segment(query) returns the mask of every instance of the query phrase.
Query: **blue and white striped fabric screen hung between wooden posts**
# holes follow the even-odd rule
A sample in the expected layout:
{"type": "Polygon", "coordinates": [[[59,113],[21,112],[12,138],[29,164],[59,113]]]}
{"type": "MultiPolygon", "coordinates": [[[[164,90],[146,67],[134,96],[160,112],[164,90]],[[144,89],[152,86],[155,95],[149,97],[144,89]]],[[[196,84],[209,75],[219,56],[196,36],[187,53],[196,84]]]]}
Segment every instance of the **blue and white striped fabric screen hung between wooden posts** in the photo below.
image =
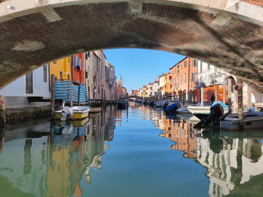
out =
{"type": "MultiPolygon", "coordinates": [[[[73,102],[78,102],[78,89],[76,85],[72,85],[73,102]]],[[[55,99],[62,99],[65,103],[70,103],[70,81],[55,82],[55,99]]],[[[80,84],[80,103],[88,102],[87,86],[80,84]]]]}

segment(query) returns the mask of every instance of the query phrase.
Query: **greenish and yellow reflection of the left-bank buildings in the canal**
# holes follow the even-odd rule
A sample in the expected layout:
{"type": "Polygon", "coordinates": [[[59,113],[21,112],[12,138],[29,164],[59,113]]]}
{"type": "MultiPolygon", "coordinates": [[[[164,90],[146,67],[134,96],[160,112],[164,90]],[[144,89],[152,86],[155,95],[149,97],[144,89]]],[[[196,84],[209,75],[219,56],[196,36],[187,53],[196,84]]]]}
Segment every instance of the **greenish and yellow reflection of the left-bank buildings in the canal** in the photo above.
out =
{"type": "Polygon", "coordinates": [[[32,126],[24,136],[7,135],[3,145],[6,149],[0,154],[0,181],[13,185],[8,195],[80,196],[83,175],[91,183],[89,169],[102,169],[102,155],[108,149],[104,142],[113,139],[115,118],[111,117],[109,113],[91,117],[85,127],[68,125],[73,130],[67,134],[56,127],[55,135],[49,135],[48,123],[45,128],[38,125],[41,130],[31,132],[30,138],[27,136],[32,126]]]}

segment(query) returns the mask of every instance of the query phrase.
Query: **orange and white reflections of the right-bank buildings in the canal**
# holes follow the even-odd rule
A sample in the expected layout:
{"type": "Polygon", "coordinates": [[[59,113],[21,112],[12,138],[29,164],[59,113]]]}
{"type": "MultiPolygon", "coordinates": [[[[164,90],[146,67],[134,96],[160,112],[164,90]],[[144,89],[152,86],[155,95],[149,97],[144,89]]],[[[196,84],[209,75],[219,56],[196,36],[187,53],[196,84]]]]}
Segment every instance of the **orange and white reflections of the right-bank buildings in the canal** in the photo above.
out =
{"type": "MultiPolygon", "coordinates": [[[[263,173],[263,133],[262,131],[228,131],[207,128],[193,129],[196,122],[180,115],[160,115],[154,124],[161,129],[160,136],[175,142],[171,149],[183,151],[183,156],[193,158],[207,169],[210,179],[209,196],[244,195],[236,186],[249,182],[253,176],[263,173]],[[193,123],[195,122],[195,123],[193,123]]],[[[261,183],[263,181],[262,176],[261,183]]],[[[258,183],[255,183],[258,184],[258,183]]],[[[250,196],[251,184],[245,184],[250,196]]],[[[243,187],[244,190],[244,187],[243,187]]],[[[263,188],[256,187],[254,193],[262,195],[263,188]]],[[[244,191],[243,191],[244,192],[244,191]]]]}

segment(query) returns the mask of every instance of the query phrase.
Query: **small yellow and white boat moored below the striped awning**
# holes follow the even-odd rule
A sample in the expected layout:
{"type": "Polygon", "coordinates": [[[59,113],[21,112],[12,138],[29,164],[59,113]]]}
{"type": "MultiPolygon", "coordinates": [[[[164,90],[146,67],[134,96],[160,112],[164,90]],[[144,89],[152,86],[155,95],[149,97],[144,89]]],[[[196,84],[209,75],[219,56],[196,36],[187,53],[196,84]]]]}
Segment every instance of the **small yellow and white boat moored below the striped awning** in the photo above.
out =
{"type": "Polygon", "coordinates": [[[64,107],[62,110],[55,111],[55,118],[61,119],[67,113],[66,120],[78,120],[88,117],[89,106],[64,107]]]}

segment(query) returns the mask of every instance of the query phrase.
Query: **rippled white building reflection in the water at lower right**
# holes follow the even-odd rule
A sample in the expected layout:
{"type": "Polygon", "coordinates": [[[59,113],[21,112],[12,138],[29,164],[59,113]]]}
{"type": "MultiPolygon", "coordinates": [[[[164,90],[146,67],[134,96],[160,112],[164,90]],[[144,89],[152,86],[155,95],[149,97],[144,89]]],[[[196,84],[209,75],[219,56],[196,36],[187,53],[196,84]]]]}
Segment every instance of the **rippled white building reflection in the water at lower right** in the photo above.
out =
{"type": "Polygon", "coordinates": [[[208,170],[210,196],[227,195],[236,185],[263,173],[259,139],[224,139],[219,133],[212,136],[204,132],[196,141],[197,161],[208,170]]]}

